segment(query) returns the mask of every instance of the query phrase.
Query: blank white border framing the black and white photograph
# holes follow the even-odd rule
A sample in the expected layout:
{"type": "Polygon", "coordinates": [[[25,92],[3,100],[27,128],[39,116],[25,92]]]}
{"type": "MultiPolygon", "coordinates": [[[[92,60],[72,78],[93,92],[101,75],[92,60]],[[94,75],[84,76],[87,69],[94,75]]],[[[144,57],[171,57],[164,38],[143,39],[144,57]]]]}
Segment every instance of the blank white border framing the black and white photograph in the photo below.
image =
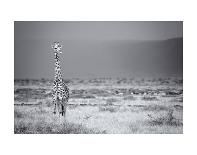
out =
{"type": "Polygon", "coordinates": [[[1,2],[1,154],[197,154],[196,5],[181,0],[1,2]],[[184,21],[184,134],[14,135],[14,21],[184,21]]]}

